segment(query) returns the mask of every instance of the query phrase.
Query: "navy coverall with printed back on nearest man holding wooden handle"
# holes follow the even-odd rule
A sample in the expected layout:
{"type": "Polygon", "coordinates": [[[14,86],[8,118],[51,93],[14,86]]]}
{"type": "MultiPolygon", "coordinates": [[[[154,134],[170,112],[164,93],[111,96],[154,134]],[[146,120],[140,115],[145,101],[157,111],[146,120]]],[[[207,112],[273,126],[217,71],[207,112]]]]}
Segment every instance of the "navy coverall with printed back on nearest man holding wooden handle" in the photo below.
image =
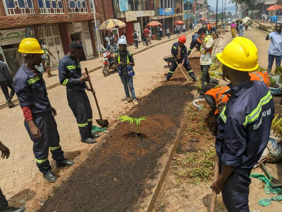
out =
{"type": "Polygon", "coordinates": [[[264,82],[250,81],[231,90],[227,105],[217,119],[216,153],[223,164],[235,166],[222,190],[228,211],[249,212],[249,175],[266,148],[274,117],[274,102],[264,82]]]}

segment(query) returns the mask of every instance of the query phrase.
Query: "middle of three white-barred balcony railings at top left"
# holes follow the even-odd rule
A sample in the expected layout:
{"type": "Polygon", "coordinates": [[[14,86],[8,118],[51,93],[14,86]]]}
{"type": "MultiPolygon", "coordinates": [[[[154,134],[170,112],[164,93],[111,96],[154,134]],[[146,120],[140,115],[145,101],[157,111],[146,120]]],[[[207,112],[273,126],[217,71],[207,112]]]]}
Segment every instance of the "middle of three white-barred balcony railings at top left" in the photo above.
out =
{"type": "Polygon", "coordinates": [[[59,0],[37,0],[40,14],[63,14],[63,2],[59,0]]]}

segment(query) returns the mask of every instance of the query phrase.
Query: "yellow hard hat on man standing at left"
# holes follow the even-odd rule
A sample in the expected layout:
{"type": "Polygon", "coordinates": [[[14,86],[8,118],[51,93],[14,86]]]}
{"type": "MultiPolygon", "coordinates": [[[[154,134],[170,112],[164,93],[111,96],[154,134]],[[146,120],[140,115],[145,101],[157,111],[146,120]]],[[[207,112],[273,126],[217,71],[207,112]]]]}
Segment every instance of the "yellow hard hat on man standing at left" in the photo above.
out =
{"type": "Polygon", "coordinates": [[[41,46],[39,45],[38,41],[35,38],[22,39],[18,51],[25,54],[44,53],[44,51],[41,49],[41,46]]]}

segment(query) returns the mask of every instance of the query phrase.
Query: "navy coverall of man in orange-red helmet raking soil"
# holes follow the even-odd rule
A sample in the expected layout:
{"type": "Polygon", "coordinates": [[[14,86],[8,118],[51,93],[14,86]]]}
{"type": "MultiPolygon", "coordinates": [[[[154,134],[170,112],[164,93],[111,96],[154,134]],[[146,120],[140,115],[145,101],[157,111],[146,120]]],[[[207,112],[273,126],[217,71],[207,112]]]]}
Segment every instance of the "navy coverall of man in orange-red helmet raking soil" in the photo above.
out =
{"type": "MultiPolygon", "coordinates": [[[[171,54],[174,55],[175,58],[177,56],[177,46],[178,46],[178,42],[175,42],[171,48],[171,54]]],[[[195,73],[193,72],[192,67],[190,66],[189,60],[187,59],[187,48],[185,45],[183,45],[181,48],[181,59],[178,59],[177,62],[181,64],[183,59],[185,59],[183,66],[186,69],[187,73],[190,75],[190,77],[192,77],[193,79],[196,79],[197,77],[195,73]]],[[[177,68],[177,63],[173,61],[171,64],[171,67],[169,68],[167,76],[166,76],[168,80],[174,74],[174,71],[176,68],[177,68]]]]}

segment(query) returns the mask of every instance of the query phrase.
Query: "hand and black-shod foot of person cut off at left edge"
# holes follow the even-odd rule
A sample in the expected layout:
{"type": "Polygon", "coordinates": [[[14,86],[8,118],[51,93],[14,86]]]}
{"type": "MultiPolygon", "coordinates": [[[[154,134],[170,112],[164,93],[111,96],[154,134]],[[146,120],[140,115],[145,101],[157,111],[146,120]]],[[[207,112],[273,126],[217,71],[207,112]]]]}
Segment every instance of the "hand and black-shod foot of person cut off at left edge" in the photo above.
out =
{"type": "MultiPolygon", "coordinates": [[[[0,141],[0,151],[1,151],[1,158],[8,159],[10,156],[10,150],[1,143],[0,141]]],[[[25,207],[11,207],[8,206],[8,201],[6,200],[6,197],[4,196],[4,194],[1,191],[0,188],[0,211],[1,212],[24,212],[26,210],[25,207]]]]}

